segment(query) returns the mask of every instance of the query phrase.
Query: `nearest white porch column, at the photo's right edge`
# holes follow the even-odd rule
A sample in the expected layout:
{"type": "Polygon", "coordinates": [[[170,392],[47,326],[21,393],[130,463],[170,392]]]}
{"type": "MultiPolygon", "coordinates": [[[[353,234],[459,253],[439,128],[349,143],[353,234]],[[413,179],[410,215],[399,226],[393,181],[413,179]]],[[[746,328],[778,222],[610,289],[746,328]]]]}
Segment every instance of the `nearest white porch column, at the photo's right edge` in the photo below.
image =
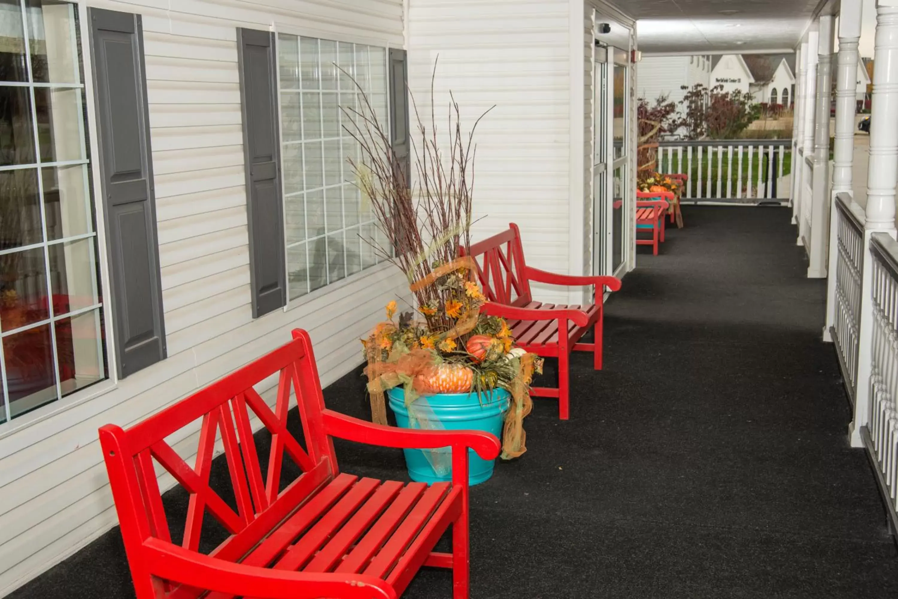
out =
{"type": "Polygon", "coordinates": [[[895,236],[895,185],[898,183],[898,0],[876,2],[876,50],[880,68],[873,72],[870,121],[870,163],[867,171],[867,226],[864,234],[864,272],[861,277],[860,330],[858,332],[858,393],[854,421],[849,427],[851,446],[861,447],[860,428],[870,413],[870,372],[873,359],[872,233],[895,236]]]}

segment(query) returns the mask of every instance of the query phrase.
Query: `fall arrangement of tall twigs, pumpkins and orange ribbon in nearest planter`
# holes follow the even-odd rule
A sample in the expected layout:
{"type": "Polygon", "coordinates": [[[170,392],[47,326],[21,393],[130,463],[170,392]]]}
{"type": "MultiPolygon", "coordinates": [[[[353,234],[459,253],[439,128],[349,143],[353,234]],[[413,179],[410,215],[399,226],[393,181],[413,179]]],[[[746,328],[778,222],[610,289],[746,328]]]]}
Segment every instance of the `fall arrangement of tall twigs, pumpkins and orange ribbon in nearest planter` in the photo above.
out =
{"type": "Polygon", "coordinates": [[[529,389],[533,374],[541,372],[541,358],[515,348],[513,332],[503,319],[481,313],[488,298],[477,284],[477,264],[467,255],[476,154],[472,138],[486,113],[465,136],[453,99],[449,134],[441,138],[436,132],[433,87],[429,131],[412,97],[418,121],[418,139],[412,142],[418,177],[412,186],[407,165],[393,152],[390,137],[359,91],[363,96],[359,110],[343,109],[348,123],[344,128],[362,156],[349,163],[389,247],[365,241],[405,273],[415,304],[398,316],[396,302],[387,304],[386,320],[362,340],[372,418],[386,423],[384,392],[400,385],[409,414],[414,404],[426,403],[428,395],[477,392],[487,398],[492,390],[506,389],[511,405],[502,456],[524,454],[523,420],[533,406],[529,389]]]}

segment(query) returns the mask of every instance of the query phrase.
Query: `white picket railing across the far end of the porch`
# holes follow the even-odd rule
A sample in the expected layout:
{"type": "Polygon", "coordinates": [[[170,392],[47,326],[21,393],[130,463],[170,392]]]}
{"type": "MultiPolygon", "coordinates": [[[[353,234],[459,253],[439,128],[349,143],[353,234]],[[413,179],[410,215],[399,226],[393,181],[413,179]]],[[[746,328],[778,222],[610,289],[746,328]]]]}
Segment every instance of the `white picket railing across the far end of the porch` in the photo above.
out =
{"type": "Polygon", "coordinates": [[[791,166],[790,145],[789,139],[664,141],[658,172],[689,175],[682,195],[687,202],[788,200],[788,185],[779,180],[783,164],[791,166]]]}

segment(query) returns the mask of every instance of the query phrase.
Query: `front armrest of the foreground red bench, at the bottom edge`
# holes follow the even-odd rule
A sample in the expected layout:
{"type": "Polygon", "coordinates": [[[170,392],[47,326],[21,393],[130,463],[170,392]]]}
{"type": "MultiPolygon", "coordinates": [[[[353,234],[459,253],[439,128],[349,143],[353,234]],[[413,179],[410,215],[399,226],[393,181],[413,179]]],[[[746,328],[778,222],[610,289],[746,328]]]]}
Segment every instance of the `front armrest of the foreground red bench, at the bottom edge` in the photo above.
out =
{"type": "Polygon", "coordinates": [[[291,572],[244,566],[150,538],[143,543],[144,567],[182,585],[268,599],[396,599],[391,585],[364,574],[291,572]]]}

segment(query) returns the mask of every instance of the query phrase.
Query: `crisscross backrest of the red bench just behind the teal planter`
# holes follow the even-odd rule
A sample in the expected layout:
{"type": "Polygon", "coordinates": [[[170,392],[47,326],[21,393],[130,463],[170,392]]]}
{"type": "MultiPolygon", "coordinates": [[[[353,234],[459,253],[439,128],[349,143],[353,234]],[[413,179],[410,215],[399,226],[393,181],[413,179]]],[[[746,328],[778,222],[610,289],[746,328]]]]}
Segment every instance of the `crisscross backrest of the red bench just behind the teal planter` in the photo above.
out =
{"type": "Polygon", "coordinates": [[[470,255],[477,263],[483,294],[490,302],[522,306],[533,301],[530,282],[524,276],[524,248],[517,225],[512,223],[506,231],[472,243],[470,255]]]}

